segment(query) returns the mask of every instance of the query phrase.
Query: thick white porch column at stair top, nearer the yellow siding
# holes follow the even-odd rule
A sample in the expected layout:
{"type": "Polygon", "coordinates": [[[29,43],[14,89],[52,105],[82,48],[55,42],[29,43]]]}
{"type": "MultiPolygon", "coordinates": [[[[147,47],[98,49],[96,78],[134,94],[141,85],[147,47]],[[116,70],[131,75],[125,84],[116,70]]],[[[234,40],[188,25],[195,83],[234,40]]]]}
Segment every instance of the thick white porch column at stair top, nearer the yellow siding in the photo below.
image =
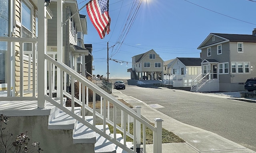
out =
{"type": "Polygon", "coordinates": [[[44,6],[44,0],[38,0],[38,64],[37,64],[37,84],[38,84],[38,107],[45,108],[46,100],[44,95],[46,94],[46,60],[44,55],[46,54],[46,7],[44,6]]]}

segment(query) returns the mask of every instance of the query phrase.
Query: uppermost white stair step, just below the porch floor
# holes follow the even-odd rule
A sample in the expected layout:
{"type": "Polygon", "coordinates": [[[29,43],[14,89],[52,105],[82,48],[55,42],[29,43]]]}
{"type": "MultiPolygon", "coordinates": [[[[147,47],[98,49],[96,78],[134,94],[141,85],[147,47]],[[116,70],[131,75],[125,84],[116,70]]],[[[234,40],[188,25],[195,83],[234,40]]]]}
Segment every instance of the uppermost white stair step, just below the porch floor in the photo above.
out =
{"type": "MultiPolygon", "coordinates": [[[[71,108],[69,108],[71,109],[71,108]]],[[[74,112],[80,115],[80,107],[75,108],[74,112]]],[[[56,110],[60,111],[60,110],[56,110]]],[[[60,111],[59,114],[51,118],[48,122],[48,129],[74,129],[76,120],[70,115],[66,114],[63,111],[60,111]]]]}

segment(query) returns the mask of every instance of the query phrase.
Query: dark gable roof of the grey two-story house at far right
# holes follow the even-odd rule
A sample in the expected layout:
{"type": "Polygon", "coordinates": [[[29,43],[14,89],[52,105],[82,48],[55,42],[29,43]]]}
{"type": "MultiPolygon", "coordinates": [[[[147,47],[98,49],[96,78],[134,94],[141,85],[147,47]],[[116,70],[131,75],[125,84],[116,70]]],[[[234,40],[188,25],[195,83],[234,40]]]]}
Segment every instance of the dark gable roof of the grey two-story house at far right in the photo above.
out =
{"type": "Polygon", "coordinates": [[[227,33],[210,33],[206,39],[199,45],[197,49],[204,49],[212,45],[218,45],[224,42],[250,42],[256,43],[256,36],[254,35],[243,35],[243,34],[227,34],[227,33]],[[212,36],[219,37],[222,41],[216,41],[212,44],[206,45],[206,43],[212,38],[212,36]]]}

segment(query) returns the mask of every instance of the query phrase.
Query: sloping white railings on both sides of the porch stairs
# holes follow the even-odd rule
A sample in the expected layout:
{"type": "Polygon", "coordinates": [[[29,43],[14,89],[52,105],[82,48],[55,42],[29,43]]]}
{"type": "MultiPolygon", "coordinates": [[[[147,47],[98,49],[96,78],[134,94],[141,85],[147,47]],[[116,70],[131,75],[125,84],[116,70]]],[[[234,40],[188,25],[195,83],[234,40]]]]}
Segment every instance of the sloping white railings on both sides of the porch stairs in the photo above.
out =
{"type": "MultiPolygon", "coordinates": [[[[142,118],[140,118],[133,110],[131,110],[130,108],[128,108],[128,106],[122,104],[122,102],[120,102],[119,100],[117,100],[116,98],[114,98],[113,96],[111,96],[110,94],[108,94],[106,91],[102,90],[100,87],[96,86],[95,84],[93,84],[90,80],[86,79],[85,77],[83,77],[82,75],[76,73],[76,71],[74,71],[73,69],[67,67],[64,64],[58,63],[57,61],[55,61],[54,59],[52,59],[51,57],[49,57],[48,55],[45,55],[46,60],[48,61],[48,69],[51,70],[52,67],[58,67],[60,69],[60,74],[64,74],[67,73],[68,75],[70,75],[71,77],[71,84],[74,84],[75,80],[77,80],[79,83],[82,84],[82,88],[81,88],[81,92],[82,92],[82,99],[78,100],[77,98],[75,98],[75,93],[74,93],[74,85],[71,85],[71,94],[68,94],[67,92],[63,91],[63,93],[65,95],[67,95],[69,98],[71,98],[72,101],[72,111],[68,110],[65,108],[65,106],[62,106],[60,103],[54,101],[52,99],[52,94],[50,92],[50,86],[52,86],[51,82],[52,79],[51,77],[49,77],[49,95],[47,96],[45,95],[45,98],[47,101],[51,102],[52,104],[54,104],[56,107],[60,108],[61,110],[63,110],[64,112],[66,112],[67,114],[69,114],[70,116],[72,116],[73,118],[75,118],[76,120],[78,120],[79,122],[83,123],[84,125],[88,126],[89,128],[91,128],[92,130],[96,131],[97,133],[99,133],[100,135],[104,136],[106,139],[108,139],[109,141],[115,143],[116,145],[118,145],[119,147],[121,147],[122,149],[124,149],[125,151],[129,152],[129,153],[133,153],[136,152],[136,145],[140,144],[140,142],[137,142],[139,139],[139,137],[141,136],[140,134],[138,135],[137,130],[137,125],[136,124],[142,124],[143,125],[143,145],[144,145],[144,150],[146,150],[146,127],[148,127],[149,129],[151,129],[154,132],[154,153],[160,153],[162,150],[162,120],[160,119],[156,119],[156,123],[155,123],[155,127],[152,126],[151,124],[149,124],[148,122],[144,121],[142,118]],[[88,100],[87,100],[87,95],[88,95],[88,89],[92,90],[93,93],[93,108],[90,108],[88,106],[88,100]],[[85,94],[87,93],[87,94],[85,94]],[[102,97],[102,102],[101,102],[101,108],[100,112],[96,111],[96,94],[98,94],[100,97],[102,97]],[[85,96],[86,95],[86,96],[85,96]],[[74,103],[78,103],[82,106],[82,118],[80,116],[78,116],[77,114],[74,113],[74,103]],[[102,104],[103,103],[103,104],[102,104]],[[110,104],[113,105],[113,112],[110,112],[110,104]],[[90,124],[89,122],[87,122],[84,118],[85,118],[85,110],[88,110],[90,112],[92,112],[92,116],[93,116],[93,124],[90,124]],[[116,112],[117,111],[121,111],[123,113],[123,116],[116,116],[116,112]],[[113,113],[113,118],[110,118],[110,113],[113,113]],[[101,120],[103,125],[106,125],[107,123],[110,124],[111,126],[114,127],[114,138],[111,137],[110,135],[106,134],[106,128],[102,130],[97,129],[96,128],[96,116],[98,116],[101,120]],[[128,118],[133,118],[133,132],[130,132],[130,122],[128,121],[128,118]],[[122,125],[118,126],[117,124],[117,119],[120,118],[120,120],[122,120],[122,125]],[[116,140],[116,130],[120,130],[123,134],[124,137],[124,142],[120,143],[119,141],[116,140]],[[130,149],[126,146],[126,137],[130,137],[134,140],[134,149],[130,149]]],[[[49,76],[51,76],[51,72],[48,72],[49,76]]],[[[60,97],[61,99],[63,98],[60,97]]],[[[105,127],[105,126],[103,126],[105,127]]],[[[140,129],[140,128],[139,128],[140,129]]]]}

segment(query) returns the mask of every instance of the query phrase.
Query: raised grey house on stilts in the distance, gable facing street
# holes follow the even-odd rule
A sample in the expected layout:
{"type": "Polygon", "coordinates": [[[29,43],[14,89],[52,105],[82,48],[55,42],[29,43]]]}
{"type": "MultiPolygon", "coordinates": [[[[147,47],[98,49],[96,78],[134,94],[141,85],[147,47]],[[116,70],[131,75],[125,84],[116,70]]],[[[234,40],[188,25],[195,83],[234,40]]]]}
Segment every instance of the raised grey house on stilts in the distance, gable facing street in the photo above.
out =
{"type": "Polygon", "coordinates": [[[131,77],[136,76],[134,79],[142,80],[143,76],[146,76],[149,80],[158,80],[163,74],[163,63],[162,58],[154,49],[151,49],[146,53],[133,56],[132,69],[128,69],[128,72],[131,72],[131,77]]]}

